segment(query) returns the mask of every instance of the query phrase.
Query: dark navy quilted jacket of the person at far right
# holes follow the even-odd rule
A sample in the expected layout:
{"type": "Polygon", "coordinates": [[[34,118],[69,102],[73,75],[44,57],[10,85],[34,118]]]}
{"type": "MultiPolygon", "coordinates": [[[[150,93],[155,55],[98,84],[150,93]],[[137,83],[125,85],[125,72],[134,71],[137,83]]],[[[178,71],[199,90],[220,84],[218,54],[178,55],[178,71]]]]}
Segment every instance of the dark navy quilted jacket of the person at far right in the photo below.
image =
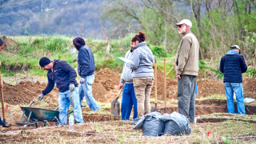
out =
{"type": "Polygon", "coordinates": [[[223,82],[242,83],[242,73],[246,72],[247,66],[238,51],[229,50],[222,57],[219,69],[224,73],[223,82]]]}

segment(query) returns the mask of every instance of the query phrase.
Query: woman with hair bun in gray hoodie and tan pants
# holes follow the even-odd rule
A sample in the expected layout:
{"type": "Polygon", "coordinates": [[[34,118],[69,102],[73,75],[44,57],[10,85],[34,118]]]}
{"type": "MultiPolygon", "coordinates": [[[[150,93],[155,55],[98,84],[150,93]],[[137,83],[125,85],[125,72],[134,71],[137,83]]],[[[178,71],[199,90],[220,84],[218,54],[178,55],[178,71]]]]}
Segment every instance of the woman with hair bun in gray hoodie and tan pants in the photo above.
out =
{"type": "Polygon", "coordinates": [[[137,98],[138,117],[150,113],[150,92],[154,83],[154,56],[146,45],[145,34],[140,31],[132,38],[134,54],[128,66],[133,71],[134,90],[137,98]]]}

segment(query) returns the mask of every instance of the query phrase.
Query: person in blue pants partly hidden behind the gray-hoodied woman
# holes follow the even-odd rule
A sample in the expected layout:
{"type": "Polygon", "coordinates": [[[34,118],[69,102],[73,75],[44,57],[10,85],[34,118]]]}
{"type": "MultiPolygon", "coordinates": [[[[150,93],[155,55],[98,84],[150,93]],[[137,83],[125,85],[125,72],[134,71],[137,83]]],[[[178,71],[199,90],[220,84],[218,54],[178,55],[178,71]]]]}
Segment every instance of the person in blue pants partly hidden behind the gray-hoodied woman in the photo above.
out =
{"type": "MultiPolygon", "coordinates": [[[[130,60],[134,51],[134,42],[130,42],[130,50],[126,52],[126,59],[130,60]]],[[[138,116],[137,109],[137,98],[134,92],[133,75],[131,74],[131,69],[126,65],[123,65],[122,76],[120,79],[119,89],[122,89],[122,104],[121,104],[121,114],[122,120],[129,120],[130,112],[134,106],[134,118],[138,116]],[[124,85],[124,83],[126,84],[124,85]]]]}

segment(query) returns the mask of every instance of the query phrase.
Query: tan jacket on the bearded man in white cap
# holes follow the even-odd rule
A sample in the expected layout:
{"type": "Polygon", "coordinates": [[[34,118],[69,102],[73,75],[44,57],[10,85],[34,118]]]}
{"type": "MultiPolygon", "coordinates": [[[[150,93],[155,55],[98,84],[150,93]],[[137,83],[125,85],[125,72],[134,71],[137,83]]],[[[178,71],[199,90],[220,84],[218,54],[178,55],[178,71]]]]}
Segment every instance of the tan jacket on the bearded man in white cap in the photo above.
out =
{"type": "Polygon", "coordinates": [[[187,31],[179,43],[176,53],[176,74],[198,75],[199,44],[198,39],[187,31]]]}

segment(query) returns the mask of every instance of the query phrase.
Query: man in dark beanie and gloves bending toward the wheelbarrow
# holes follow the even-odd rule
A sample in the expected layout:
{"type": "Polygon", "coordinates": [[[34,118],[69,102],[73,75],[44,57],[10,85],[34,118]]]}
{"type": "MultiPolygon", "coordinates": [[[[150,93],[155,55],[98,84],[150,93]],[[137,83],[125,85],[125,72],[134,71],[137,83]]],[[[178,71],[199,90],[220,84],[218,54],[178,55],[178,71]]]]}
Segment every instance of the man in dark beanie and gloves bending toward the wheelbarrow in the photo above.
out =
{"type": "Polygon", "coordinates": [[[58,111],[60,125],[66,125],[67,111],[70,108],[70,103],[74,108],[74,118],[77,123],[83,123],[82,110],[78,96],[78,82],[75,80],[77,73],[72,66],[66,61],[55,59],[50,61],[49,58],[42,57],[39,65],[43,70],[48,70],[48,84],[42,94],[38,95],[38,100],[50,93],[54,89],[56,83],[58,93],[58,111]]]}

